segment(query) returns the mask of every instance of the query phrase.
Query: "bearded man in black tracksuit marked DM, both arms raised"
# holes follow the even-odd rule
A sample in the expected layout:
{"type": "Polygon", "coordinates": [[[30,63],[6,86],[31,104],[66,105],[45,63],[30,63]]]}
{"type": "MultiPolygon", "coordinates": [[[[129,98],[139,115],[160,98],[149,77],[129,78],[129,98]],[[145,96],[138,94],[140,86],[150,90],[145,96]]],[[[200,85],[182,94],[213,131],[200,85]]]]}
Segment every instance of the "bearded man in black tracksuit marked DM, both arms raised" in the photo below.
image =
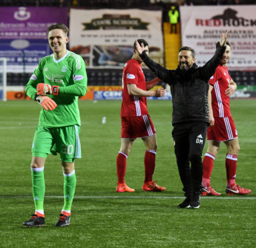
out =
{"type": "Polygon", "coordinates": [[[179,66],[169,70],[155,63],[144,51],[143,44],[136,48],[143,62],[171,86],[173,97],[173,141],[179,176],[185,191],[181,208],[199,208],[203,176],[202,152],[209,125],[207,101],[208,81],[225,52],[229,31],[221,34],[215,55],[203,67],[195,63],[195,51],[191,47],[179,49],[179,66]],[[191,165],[190,165],[191,164],[191,165]]]}

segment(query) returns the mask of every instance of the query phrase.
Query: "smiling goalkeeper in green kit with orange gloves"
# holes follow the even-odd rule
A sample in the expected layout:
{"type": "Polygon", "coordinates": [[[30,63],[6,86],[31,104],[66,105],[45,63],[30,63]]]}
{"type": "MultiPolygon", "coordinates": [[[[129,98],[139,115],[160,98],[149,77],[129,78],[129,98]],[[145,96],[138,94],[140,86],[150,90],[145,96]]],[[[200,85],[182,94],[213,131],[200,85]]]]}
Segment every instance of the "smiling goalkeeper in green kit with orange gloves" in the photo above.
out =
{"type": "Polygon", "coordinates": [[[64,205],[56,227],[69,225],[75,194],[75,158],[81,158],[78,97],[87,91],[87,74],[81,56],[67,50],[69,29],[62,23],[47,29],[53,54],[43,57],[29,79],[26,93],[41,106],[39,124],[32,144],[32,191],[35,213],[25,227],[43,226],[45,213],[44,166],[48,154],[61,157],[64,175],[64,205]],[[44,83],[42,83],[44,82],[44,83]]]}

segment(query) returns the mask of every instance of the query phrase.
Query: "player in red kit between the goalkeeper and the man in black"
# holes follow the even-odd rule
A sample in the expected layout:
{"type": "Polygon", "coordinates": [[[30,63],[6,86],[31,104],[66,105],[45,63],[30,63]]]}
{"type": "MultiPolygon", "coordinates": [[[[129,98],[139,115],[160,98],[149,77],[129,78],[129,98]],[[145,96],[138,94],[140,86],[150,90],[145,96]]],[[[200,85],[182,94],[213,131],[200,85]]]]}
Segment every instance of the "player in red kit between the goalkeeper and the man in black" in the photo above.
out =
{"type": "MultiPolygon", "coordinates": [[[[147,53],[149,44],[144,39],[139,39],[143,43],[147,53]]],[[[148,91],[153,88],[160,79],[155,78],[146,82],[145,75],[141,68],[141,57],[137,52],[135,43],[133,45],[133,57],[127,61],[123,67],[123,101],[121,106],[121,148],[117,155],[117,192],[133,192],[125,183],[125,172],[127,157],[131,151],[133,141],[141,138],[145,144],[145,181],[144,191],[164,191],[165,187],[160,187],[153,181],[155,170],[155,155],[157,150],[157,137],[155,127],[147,111],[147,97],[163,97],[165,89],[148,91]]]]}

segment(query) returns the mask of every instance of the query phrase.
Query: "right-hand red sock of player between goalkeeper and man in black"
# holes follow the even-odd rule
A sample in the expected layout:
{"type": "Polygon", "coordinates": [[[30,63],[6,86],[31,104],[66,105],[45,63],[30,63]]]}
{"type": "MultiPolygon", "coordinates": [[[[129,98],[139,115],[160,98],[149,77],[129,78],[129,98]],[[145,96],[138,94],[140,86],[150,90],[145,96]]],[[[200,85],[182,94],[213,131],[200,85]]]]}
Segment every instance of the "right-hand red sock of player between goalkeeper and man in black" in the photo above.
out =
{"type": "Polygon", "coordinates": [[[145,183],[153,181],[153,174],[155,171],[155,155],[157,152],[155,150],[146,150],[144,157],[145,165],[145,183]]]}

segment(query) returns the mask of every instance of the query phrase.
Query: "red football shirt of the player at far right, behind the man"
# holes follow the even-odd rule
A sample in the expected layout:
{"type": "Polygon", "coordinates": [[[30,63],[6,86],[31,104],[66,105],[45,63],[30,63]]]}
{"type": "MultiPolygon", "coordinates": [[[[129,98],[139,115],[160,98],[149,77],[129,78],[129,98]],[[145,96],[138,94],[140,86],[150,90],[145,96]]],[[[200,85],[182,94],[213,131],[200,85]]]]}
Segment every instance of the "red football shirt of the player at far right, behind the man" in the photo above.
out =
{"type": "Polygon", "coordinates": [[[229,86],[231,77],[227,66],[219,65],[210,78],[209,84],[213,85],[211,91],[211,106],[213,107],[213,117],[230,117],[229,97],[225,95],[225,90],[229,86]]]}

